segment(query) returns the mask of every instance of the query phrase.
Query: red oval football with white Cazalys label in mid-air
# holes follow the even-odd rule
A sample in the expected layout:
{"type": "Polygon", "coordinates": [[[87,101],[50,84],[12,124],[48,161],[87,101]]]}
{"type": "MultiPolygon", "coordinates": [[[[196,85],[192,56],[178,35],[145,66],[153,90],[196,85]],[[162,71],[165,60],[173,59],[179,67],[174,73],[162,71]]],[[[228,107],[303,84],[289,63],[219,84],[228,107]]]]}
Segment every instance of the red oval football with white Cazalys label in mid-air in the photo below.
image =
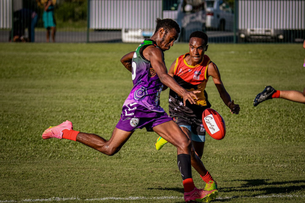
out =
{"type": "Polygon", "coordinates": [[[221,140],[226,135],[226,124],[221,115],[214,109],[208,108],[202,114],[203,126],[214,139],[221,140]]]}

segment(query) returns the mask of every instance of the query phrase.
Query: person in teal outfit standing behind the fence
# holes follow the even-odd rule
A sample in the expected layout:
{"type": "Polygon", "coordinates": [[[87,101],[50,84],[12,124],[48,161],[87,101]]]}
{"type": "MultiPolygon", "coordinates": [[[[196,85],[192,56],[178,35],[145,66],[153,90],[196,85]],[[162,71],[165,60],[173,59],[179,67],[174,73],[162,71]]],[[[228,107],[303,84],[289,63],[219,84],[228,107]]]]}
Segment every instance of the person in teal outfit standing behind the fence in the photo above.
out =
{"type": "Polygon", "coordinates": [[[42,15],[42,20],[45,28],[47,29],[47,42],[50,40],[50,30],[52,30],[52,40],[55,42],[55,33],[56,33],[56,22],[54,17],[54,5],[53,0],[48,0],[44,4],[45,11],[42,15]]]}

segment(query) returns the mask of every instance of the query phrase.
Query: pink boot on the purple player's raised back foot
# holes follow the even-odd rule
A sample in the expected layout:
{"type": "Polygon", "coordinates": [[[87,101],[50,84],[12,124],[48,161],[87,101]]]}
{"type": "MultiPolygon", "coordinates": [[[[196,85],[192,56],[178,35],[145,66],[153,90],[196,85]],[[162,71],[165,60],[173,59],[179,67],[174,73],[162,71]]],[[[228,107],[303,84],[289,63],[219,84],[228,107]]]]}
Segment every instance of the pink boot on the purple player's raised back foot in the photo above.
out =
{"type": "Polygon", "coordinates": [[[49,138],[61,139],[61,138],[63,138],[63,130],[64,129],[73,130],[72,123],[70,121],[66,120],[62,124],[59,124],[59,125],[54,126],[54,127],[51,126],[50,128],[46,129],[42,133],[42,138],[44,138],[44,139],[49,139],[49,138]]]}

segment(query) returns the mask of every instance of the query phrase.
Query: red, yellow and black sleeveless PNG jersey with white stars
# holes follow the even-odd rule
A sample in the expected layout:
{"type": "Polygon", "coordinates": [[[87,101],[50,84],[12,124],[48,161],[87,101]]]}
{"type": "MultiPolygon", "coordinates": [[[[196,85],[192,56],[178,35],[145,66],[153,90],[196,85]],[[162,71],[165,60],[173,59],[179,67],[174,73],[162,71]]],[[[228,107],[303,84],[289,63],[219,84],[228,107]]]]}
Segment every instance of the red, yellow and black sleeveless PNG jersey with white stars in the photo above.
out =
{"type": "Polygon", "coordinates": [[[196,104],[190,104],[187,101],[186,106],[184,106],[183,98],[173,90],[170,90],[169,111],[171,116],[201,118],[203,110],[211,107],[205,91],[206,83],[208,82],[207,68],[211,60],[207,55],[204,55],[201,63],[192,66],[188,65],[185,61],[187,55],[189,53],[181,55],[176,59],[174,79],[188,91],[200,90],[201,92],[196,94],[198,97],[196,104]]]}

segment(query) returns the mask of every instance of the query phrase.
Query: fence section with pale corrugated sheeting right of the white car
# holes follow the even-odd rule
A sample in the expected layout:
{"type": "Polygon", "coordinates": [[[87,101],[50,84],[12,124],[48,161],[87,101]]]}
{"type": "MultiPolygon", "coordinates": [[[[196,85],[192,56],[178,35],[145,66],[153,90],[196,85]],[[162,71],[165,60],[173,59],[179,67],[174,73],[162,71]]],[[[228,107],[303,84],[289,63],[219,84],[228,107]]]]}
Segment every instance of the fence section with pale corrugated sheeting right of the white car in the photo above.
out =
{"type": "Polygon", "coordinates": [[[240,0],[237,3],[239,41],[303,42],[305,1],[240,0]]]}

